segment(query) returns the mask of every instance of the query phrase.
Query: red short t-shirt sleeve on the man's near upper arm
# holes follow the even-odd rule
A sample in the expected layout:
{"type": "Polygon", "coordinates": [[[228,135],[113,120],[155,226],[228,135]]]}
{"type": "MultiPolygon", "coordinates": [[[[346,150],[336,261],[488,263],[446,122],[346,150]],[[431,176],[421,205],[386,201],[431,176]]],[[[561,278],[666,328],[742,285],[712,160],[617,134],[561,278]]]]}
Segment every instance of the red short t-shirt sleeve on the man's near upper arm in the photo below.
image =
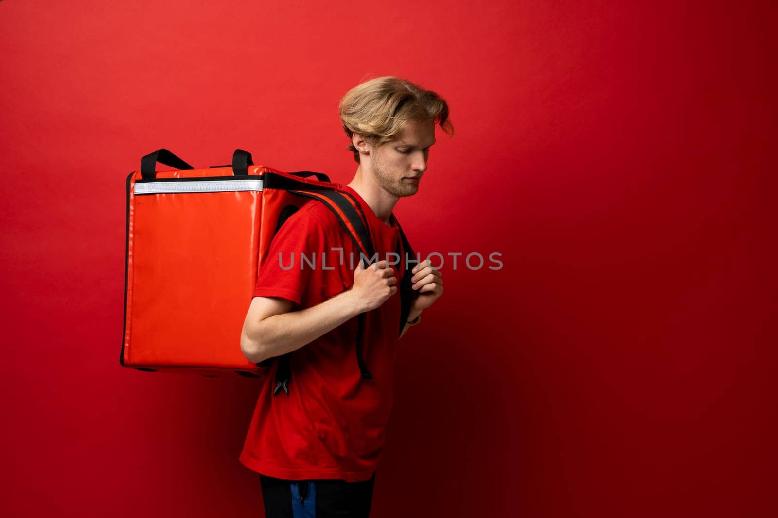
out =
{"type": "Polygon", "coordinates": [[[312,282],[310,262],[321,256],[324,242],[324,228],[310,210],[292,214],[270,244],[254,297],[282,297],[300,305],[312,282]]]}

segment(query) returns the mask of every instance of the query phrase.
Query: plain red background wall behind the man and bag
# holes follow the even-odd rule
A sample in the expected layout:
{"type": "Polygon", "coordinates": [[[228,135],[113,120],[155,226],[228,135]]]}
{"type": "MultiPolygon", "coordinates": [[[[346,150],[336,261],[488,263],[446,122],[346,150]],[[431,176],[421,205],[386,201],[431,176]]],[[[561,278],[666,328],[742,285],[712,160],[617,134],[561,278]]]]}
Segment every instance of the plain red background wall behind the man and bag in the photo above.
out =
{"type": "Polygon", "coordinates": [[[776,9],[753,2],[0,3],[16,516],[261,516],[256,382],[118,366],[124,179],[170,148],[356,164],[338,99],[447,98],[398,215],[446,293],[403,339],[373,516],[776,512],[776,9]]]}

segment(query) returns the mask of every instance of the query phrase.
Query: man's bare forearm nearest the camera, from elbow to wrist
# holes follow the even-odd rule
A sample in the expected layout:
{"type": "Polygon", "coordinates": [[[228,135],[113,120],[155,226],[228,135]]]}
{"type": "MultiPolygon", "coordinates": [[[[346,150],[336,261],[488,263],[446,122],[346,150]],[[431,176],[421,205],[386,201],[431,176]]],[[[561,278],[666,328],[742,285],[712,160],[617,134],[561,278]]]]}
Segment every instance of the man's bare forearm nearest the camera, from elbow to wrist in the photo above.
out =
{"type": "Polygon", "coordinates": [[[248,359],[259,363],[300,349],[361,312],[352,292],[346,290],[311,308],[272,315],[248,335],[257,351],[256,356],[248,359]]]}

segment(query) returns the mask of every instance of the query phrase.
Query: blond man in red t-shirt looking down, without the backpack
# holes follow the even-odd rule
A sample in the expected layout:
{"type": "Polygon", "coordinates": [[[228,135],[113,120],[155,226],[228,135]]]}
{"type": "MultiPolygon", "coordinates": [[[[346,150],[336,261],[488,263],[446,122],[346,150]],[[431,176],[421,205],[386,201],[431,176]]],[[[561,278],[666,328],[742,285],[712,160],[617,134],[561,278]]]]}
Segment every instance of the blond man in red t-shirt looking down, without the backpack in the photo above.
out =
{"type": "MultiPolygon", "coordinates": [[[[385,258],[402,250],[392,210],[418,192],[435,125],[453,134],[448,106],[435,92],[388,76],[346,93],[340,115],[358,163],[342,190],[359,204],[375,252],[385,258]]],[[[276,361],[240,455],[260,474],[268,518],[370,513],[392,403],[404,250],[401,258],[397,269],[387,260],[365,267],[338,218],[318,201],[289,217],[273,239],[240,341],[253,362],[292,353],[288,393],[274,395],[276,361]],[[297,262],[303,254],[315,254],[315,267],[297,262]],[[360,362],[369,377],[354,360],[363,312],[360,362]]],[[[400,336],[443,294],[441,273],[429,262],[412,273],[418,297],[400,336]]]]}

